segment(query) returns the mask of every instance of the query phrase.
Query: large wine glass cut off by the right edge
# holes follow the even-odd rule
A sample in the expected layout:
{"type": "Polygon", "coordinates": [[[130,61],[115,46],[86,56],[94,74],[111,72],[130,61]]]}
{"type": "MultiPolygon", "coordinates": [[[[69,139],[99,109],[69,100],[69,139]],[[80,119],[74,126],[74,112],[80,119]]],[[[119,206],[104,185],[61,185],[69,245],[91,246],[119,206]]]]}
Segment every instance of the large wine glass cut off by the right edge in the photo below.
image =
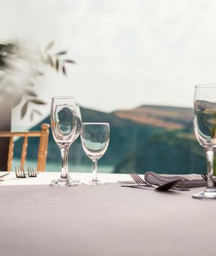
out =
{"type": "Polygon", "coordinates": [[[216,148],[216,84],[197,85],[194,95],[194,131],[207,158],[207,187],[194,198],[216,198],[212,180],[213,158],[216,148]]]}

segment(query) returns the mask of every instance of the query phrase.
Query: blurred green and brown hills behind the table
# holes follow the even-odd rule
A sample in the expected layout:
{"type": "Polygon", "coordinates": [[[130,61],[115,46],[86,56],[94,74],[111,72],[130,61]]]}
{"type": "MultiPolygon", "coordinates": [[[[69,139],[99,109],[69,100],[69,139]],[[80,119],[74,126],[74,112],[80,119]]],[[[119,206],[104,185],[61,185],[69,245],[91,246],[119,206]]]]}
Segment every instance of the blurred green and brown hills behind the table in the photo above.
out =
{"type": "MultiPolygon", "coordinates": [[[[115,173],[194,173],[205,166],[202,148],[193,135],[193,114],[189,108],[140,106],[104,113],[81,108],[83,122],[109,122],[110,143],[99,164],[115,166],[115,173]],[[197,153],[198,152],[198,153],[197,153]]],[[[41,123],[49,123],[49,116],[41,123]]],[[[39,130],[41,123],[32,128],[39,130]]],[[[21,141],[15,142],[21,145],[21,141]]],[[[20,155],[15,145],[14,155],[20,155]]],[[[36,158],[37,139],[29,140],[28,158],[36,158]]],[[[48,161],[60,161],[60,151],[50,132],[48,161]]],[[[89,163],[80,138],[70,147],[72,164],[89,163]]]]}

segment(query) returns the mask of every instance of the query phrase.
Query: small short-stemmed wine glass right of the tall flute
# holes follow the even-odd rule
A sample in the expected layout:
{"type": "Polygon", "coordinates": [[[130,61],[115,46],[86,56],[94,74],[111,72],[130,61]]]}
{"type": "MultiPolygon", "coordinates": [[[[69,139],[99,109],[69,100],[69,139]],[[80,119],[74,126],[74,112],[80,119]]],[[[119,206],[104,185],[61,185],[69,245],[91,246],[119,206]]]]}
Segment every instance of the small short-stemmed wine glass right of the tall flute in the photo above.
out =
{"type": "Polygon", "coordinates": [[[86,155],[93,161],[92,179],[88,185],[107,184],[98,181],[97,163],[109,145],[109,124],[99,122],[83,122],[81,128],[81,144],[86,155]]]}

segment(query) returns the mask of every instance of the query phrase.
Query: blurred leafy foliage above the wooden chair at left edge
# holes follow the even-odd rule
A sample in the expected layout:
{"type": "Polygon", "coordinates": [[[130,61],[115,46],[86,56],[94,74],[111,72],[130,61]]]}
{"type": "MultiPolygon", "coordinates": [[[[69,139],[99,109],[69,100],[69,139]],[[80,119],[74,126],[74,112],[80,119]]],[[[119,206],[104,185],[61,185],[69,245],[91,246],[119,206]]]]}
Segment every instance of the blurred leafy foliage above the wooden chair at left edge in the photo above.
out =
{"type": "MultiPolygon", "coordinates": [[[[67,54],[67,51],[51,54],[49,50],[52,46],[54,41],[49,42],[42,52],[26,49],[19,42],[0,44],[0,102],[11,101],[14,108],[24,101],[20,113],[22,118],[30,105],[46,104],[33,90],[35,78],[38,75],[44,75],[38,69],[39,64],[49,65],[56,71],[61,70],[64,75],[67,74],[65,63],[75,64],[71,59],[60,58],[67,54]]],[[[31,108],[31,119],[35,113],[41,114],[38,110],[31,108]]]]}

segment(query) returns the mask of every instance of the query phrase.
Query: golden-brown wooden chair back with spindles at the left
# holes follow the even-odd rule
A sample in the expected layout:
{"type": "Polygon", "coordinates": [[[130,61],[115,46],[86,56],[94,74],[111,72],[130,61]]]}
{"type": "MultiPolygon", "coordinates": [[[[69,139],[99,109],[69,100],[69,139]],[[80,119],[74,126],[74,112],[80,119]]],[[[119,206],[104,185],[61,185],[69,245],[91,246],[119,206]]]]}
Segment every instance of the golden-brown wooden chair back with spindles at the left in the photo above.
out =
{"type": "Polygon", "coordinates": [[[24,137],[22,145],[22,155],[20,161],[20,168],[25,165],[27,156],[28,137],[40,137],[38,148],[38,164],[37,171],[45,171],[46,156],[48,155],[48,139],[49,139],[49,124],[41,124],[40,131],[27,132],[0,132],[0,137],[10,137],[9,151],[7,156],[7,171],[11,170],[14,156],[14,137],[24,137]]]}

